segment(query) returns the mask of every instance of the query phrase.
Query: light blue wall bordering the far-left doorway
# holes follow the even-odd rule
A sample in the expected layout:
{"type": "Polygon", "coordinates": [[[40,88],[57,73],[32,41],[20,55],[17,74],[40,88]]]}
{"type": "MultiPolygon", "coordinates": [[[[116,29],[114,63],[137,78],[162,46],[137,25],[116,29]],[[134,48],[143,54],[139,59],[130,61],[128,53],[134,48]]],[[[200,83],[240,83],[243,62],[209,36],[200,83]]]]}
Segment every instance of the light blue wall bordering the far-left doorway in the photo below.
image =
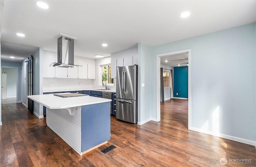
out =
{"type": "Polygon", "coordinates": [[[17,95],[17,101],[21,102],[21,76],[22,76],[22,63],[19,62],[10,62],[10,61],[2,61],[1,67],[18,67],[18,95],[17,95]]]}

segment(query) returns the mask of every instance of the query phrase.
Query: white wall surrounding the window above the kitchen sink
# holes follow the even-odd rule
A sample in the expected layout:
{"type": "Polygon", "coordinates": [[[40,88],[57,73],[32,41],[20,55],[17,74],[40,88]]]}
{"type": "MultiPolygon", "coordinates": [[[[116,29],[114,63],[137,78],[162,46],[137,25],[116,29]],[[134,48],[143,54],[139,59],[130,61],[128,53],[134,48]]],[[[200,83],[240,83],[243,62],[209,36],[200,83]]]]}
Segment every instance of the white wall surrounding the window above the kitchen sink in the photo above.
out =
{"type": "MultiPolygon", "coordinates": [[[[103,57],[100,59],[96,59],[96,79],[93,80],[93,88],[105,88],[105,85],[102,86],[102,65],[110,65],[111,57],[103,57]]],[[[108,88],[111,90],[116,90],[116,79],[114,79],[114,85],[107,84],[108,88]]]]}

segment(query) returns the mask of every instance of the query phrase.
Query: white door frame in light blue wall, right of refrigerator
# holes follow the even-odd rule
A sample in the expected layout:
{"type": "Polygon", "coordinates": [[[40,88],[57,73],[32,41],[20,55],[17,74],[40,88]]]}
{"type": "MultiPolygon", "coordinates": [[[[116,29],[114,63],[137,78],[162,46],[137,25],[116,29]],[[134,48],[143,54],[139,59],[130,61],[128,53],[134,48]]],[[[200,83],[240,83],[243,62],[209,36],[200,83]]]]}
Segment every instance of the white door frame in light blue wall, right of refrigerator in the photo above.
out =
{"type": "Polygon", "coordinates": [[[192,49],[161,53],[156,55],[156,121],[161,119],[160,113],[160,57],[188,53],[188,129],[191,129],[192,96],[191,96],[191,52],[192,49]]]}

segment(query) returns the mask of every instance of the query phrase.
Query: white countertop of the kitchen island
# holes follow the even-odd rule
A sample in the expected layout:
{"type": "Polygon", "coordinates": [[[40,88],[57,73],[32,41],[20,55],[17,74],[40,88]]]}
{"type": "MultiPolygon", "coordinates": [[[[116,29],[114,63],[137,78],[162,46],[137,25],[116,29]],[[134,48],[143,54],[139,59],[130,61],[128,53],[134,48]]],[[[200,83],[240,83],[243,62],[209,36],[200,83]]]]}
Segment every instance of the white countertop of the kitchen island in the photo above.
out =
{"type": "Polygon", "coordinates": [[[92,96],[77,96],[77,97],[58,97],[53,94],[39,94],[28,96],[31,100],[38,102],[50,109],[70,108],[76,106],[86,106],[103,102],[111,102],[111,99],[98,98],[92,96]]]}

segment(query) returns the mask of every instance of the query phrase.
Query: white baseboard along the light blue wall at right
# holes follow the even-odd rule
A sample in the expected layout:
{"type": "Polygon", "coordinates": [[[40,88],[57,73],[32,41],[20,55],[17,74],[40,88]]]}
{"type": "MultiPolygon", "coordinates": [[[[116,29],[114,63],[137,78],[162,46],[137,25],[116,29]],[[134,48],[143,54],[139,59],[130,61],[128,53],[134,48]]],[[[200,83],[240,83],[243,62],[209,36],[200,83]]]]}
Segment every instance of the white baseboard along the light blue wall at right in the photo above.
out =
{"type": "Polygon", "coordinates": [[[229,140],[237,141],[237,142],[240,142],[240,143],[254,145],[255,148],[256,148],[256,141],[252,141],[252,140],[248,140],[248,139],[242,139],[242,138],[238,138],[238,137],[234,137],[234,136],[229,136],[229,135],[225,135],[225,134],[216,134],[216,133],[208,131],[208,130],[201,130],[199,128],[194,128],[194,127],[191,127],[190,130],[193,130],[193,131],[196,131],[196,132],[200,132],[200,133],[203,133],[203,134],[217,136],[217,137],[224,138],[224,139],[229,139],[229,140]]]}

